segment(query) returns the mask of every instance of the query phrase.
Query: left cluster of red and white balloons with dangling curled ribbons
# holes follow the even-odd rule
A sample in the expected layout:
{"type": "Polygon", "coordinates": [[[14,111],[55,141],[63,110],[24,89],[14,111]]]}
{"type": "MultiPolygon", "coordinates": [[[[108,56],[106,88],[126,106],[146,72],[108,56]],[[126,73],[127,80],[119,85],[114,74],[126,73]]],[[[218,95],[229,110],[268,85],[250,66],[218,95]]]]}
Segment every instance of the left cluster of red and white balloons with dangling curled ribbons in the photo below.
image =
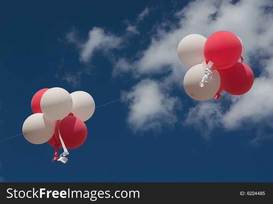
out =
{"type": "Polygon", "coordinates": [[[23,124],[25,139],[33,144],[48,142],[55,148],[55,160],[67,162],[68,149],[83,144],[87,137],[84,121],[91,118],[95,111],[92,96],[84,91],[69,94],[62,88],[41,89],[31,100],[33,115],[23,124]],[[64,153],[58,157],[58,149],[64,153]]]}

